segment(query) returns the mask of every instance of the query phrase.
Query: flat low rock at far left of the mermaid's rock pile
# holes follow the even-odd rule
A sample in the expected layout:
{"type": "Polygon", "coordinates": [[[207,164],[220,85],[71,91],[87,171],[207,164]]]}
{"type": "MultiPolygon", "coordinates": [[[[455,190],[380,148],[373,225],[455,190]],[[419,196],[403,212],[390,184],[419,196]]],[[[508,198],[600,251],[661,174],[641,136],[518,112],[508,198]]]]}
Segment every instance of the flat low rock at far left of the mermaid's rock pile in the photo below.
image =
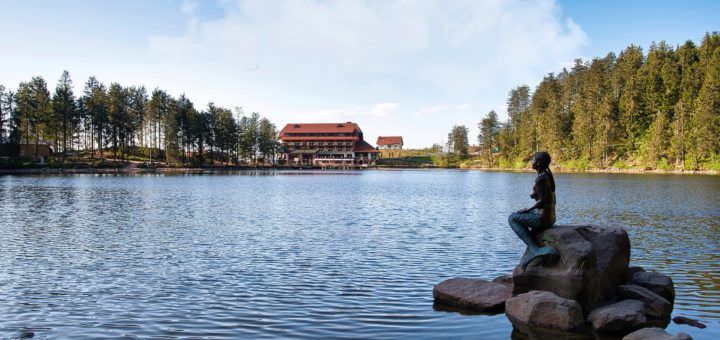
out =
{"type": "Polygon", "coordinates": [[[435,302],[484,313],[501,313],[512,288],[480,279],[454,278],[433,288],[435,302]]]}

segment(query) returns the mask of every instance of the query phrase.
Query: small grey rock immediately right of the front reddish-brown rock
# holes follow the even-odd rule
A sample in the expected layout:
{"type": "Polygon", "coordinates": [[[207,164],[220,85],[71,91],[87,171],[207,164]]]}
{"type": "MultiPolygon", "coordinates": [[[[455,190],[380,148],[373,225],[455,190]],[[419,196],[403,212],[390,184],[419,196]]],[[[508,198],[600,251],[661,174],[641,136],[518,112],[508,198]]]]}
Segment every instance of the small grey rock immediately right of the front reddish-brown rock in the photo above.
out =
{"type": "Polygon", "coordinates": [[[623,300],[594,309],[588,321],[598,333],[628,333],[646,325],[645,304],[623,300]]]}

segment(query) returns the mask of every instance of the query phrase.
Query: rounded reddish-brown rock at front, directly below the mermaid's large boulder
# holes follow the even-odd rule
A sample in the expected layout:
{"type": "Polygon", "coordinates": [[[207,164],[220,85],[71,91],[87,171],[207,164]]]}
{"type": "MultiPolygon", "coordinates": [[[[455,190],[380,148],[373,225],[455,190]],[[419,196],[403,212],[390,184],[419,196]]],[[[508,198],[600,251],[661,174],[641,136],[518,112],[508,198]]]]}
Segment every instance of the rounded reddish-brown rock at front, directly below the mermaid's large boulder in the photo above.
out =
{"type": "Polygon", "coordinates": [[[583,332],[586,329],[582,307],[546,291],[531,291],[505,302],[505,314],[513,327],[524,334],[583,332]]]}

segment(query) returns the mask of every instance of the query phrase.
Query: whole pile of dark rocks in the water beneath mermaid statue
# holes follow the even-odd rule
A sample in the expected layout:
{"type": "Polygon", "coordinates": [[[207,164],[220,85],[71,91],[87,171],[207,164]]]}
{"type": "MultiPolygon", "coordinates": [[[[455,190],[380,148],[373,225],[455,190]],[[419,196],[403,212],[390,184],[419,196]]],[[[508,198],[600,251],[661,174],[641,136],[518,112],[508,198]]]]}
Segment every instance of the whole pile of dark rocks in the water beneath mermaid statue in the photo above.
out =
{"type": "Polygon", "coordinates": [[[666,327],[670,322],[675,299],[672,279],[629,266],[625,230],[554,226],[535,238],[540,246],[554,247],[559,256],[533,260],[525,269],[518,265],[512,276],[492,282],[447,280],[435,286],[435,301],[487,312],[501,310],[501,301],[506,300],[513,338],[670,336],[648,327],[666,327]]]}

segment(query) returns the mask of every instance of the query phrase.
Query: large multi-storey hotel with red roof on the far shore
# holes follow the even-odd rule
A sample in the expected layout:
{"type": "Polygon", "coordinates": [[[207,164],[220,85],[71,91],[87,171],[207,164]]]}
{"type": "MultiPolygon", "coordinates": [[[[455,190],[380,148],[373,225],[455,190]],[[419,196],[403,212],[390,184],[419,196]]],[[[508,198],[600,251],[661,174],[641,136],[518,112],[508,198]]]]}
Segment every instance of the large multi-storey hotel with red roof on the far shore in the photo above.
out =
{"type": "Polygon", "coordinates": [[[377,159],[377,150],[353,122],[288,124],[280,130],[280,140],[291,166],[367,167],[377,159]]]}

